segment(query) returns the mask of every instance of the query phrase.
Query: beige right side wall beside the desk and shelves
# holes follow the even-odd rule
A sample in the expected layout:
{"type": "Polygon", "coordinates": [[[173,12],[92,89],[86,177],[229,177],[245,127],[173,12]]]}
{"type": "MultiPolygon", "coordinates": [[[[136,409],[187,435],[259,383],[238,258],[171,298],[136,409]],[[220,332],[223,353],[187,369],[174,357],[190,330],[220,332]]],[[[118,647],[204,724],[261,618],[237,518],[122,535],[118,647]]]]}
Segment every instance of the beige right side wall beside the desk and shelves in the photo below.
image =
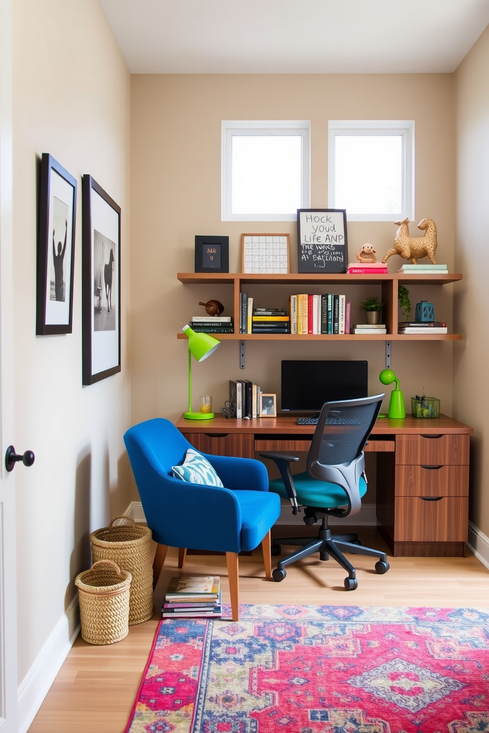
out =
{"type": "Polygon", "coordinates": [[[455,315],[465,340],[454,353],[453,402],[474,426],[471,505],[474,525],[489,536],[488,279],[489,231],[489,28],[455,73],[455,267],[465,273],[455,315]]]}

